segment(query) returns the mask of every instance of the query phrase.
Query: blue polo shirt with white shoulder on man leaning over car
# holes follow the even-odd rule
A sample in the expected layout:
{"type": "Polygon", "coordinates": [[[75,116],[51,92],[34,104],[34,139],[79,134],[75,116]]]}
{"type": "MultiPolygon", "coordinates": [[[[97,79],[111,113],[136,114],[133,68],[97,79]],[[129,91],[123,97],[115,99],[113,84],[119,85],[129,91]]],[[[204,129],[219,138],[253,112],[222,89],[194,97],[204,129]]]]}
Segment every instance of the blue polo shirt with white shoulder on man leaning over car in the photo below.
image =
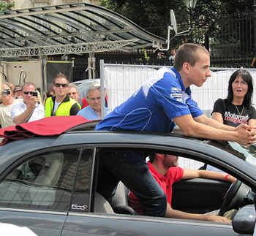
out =
{"type": "MultiPolygon", "coordinates": [[[[185,88],[176,69],[163,67],[151,76],[126,102],[109,113],[95,130],[138,130],[172,132],[173,118],[181,115],[197,117],[203,112],[185,88]]],[[[130,161],[144,161],[142,153],[125,153],[130,161]]]]}

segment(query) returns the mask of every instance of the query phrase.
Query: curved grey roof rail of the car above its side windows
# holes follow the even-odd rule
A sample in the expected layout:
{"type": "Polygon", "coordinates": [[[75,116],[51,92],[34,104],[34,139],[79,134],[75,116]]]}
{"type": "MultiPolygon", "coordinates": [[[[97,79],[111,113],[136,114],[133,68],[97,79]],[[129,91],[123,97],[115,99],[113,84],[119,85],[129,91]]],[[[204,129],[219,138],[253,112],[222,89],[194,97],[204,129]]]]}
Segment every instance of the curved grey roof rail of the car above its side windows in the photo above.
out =
{"type": "MultiPolygon", "coordinates": [[[[252,186],[252,183],[256,181],[256,176],[254,177],[256,168],[232,155],[232,153],[222,150],[222,142],[185,137],[183,134],[84,131],[81,127],[56,136],[37,136],[8,142],[0,147],[0,173],[3,173],[16,159],[28,153],[58,146],[64,149],[69,148],[69,145],[72,145],[72,147],[83,145],[85,148],[104,148],[110,151],[113,151],[114,148],[119,150],[120,148],[129,148],[129,150],[132,148],[132,151],[152,152],[153,150],[161,150],[162,152],[172,152],[173,155],[178,155],[178,153],[183,154],[182,156],[192,155],[198,160],[201,159],[200,161],[203,159],[215,163],[222,162],[227,170],[236,172],[235,177],[247,175],[249,178],[246,184],[249,186],[252,186]],[[210,142],[213,142],[214,145],[208,145],[210,142]]],[[[227,142],[225,142],[225,145],[227,145],[227,142]]]]}

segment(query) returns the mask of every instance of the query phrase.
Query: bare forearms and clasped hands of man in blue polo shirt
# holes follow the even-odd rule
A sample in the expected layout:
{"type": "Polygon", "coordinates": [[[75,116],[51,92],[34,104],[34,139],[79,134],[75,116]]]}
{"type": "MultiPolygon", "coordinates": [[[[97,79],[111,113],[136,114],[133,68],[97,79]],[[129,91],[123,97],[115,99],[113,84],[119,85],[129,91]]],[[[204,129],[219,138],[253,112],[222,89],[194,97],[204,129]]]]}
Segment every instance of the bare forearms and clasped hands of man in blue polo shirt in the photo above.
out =
{"type": "MultiPolygon", "coordinates": [[[[200,115],[202,116],[202,115],[200,115]]],[[[206,115],[204,115],[206,117],[206,115]]],[[[192,115],[181,115],[173,118],[173,121],[179,126],[186,136],[201,137],[211,140],[225,140],[238,142],[241,145],[250,145],[253,142],[253,131],[248,129],[253,127],[244,123],[240,124],[236,129],[232,126],[226,126],[214,119],[207,118],[198,122],[199,118],[192,118],[192,115]],[[203,122],[203,123],[201,123],[203,122]],[[223,128],[222,128],[223,127],[223,128]]]]}

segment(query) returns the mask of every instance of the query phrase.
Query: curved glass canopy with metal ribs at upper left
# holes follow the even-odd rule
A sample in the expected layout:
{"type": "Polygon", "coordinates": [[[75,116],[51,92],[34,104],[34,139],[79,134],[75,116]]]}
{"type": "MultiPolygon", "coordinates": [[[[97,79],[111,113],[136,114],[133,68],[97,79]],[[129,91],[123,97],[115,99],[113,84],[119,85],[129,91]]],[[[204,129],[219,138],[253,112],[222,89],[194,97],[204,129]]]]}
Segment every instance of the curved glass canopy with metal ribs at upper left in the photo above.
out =
{"type": "Polygon", "coordinates": [[[94,4],[0,12],[0,56],[130,51],[166,39],[94,4]]]}

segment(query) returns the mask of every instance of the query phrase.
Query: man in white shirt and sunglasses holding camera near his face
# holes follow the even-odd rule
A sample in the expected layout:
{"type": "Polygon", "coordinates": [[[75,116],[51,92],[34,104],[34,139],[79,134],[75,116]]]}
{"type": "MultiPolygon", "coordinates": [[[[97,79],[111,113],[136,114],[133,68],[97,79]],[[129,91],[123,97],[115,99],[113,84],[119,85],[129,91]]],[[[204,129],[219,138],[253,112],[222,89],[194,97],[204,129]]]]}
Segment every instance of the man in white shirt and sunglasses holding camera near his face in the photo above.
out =
{"type": "Polygon", "coordinates": [[[21,91],[23,102],[12,107],[12,121],[20,124],[45,118],[45,108],[39,102],[34,83],[24,83],[21,91]]]}

